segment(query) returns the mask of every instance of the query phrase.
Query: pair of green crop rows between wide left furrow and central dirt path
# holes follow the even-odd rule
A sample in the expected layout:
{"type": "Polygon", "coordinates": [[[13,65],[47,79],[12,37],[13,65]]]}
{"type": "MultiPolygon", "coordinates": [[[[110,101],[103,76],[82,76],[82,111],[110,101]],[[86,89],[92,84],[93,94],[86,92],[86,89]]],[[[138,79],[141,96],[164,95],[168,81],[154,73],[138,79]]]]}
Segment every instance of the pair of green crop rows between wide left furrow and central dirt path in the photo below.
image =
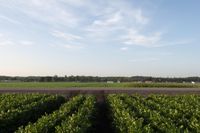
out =
{"type": "Polygon", "coordinates": [[[35,123],[20,127],[17,133],[84,132],[92,125],[95,97],[79,95],[63,104],[59,110],[45,115],[35,123]]]}

